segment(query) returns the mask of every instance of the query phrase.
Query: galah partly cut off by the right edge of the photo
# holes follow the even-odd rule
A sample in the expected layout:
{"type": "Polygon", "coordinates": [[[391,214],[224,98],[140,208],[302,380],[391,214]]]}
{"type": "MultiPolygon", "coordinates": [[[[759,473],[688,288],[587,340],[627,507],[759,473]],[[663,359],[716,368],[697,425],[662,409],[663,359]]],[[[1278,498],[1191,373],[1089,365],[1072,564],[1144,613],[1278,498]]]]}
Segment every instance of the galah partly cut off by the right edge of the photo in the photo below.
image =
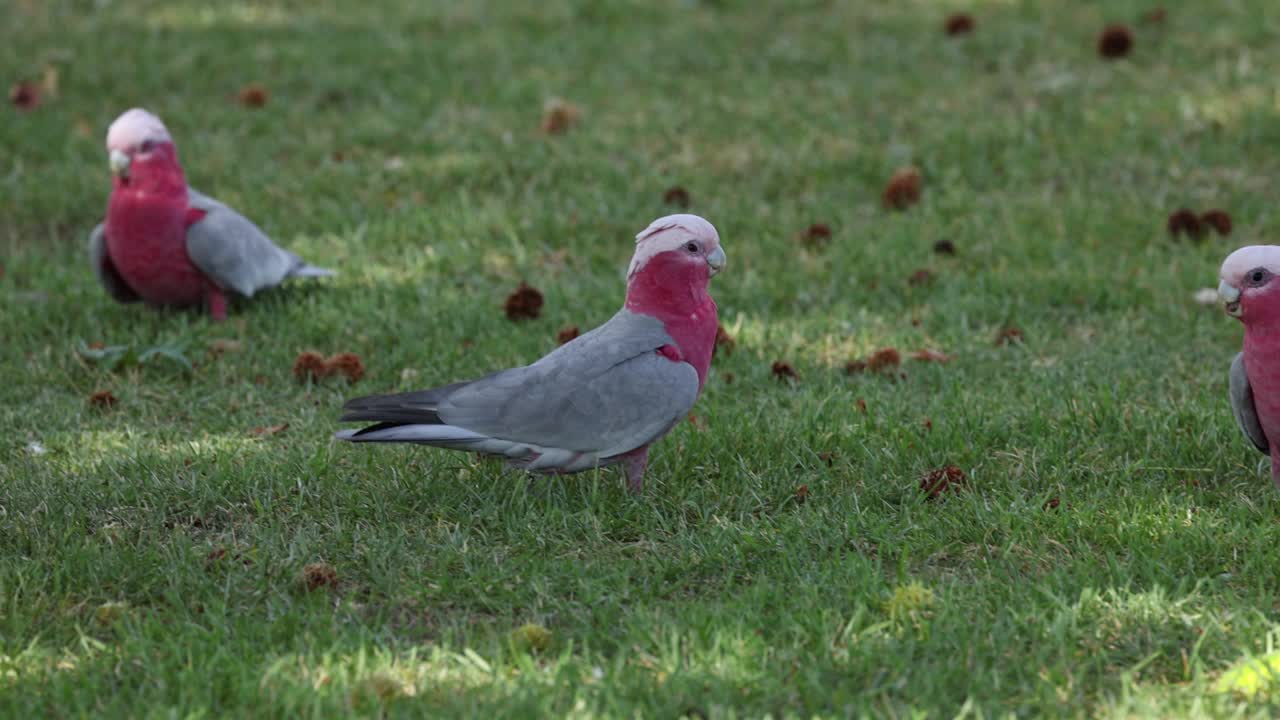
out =
{"type": "Polygon", "coordinates": [[[1242,247],[1222,261],[1217,292],[1244,323],[1244,352],[1230,370],[1231,411],[1244,436],[1271,456],[1280,487],[1280,246],[1242,247]]]}

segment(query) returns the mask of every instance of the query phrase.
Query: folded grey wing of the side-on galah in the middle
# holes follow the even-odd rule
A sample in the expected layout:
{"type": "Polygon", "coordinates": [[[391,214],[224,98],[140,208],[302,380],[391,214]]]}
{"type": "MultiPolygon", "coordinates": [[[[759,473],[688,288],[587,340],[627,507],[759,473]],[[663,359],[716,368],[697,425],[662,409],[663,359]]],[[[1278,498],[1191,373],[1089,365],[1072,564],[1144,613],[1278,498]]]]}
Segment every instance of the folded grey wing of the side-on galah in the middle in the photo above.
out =
{"type": "Polygon", "coordinates": [[[620,455],[653,442],[698,400],[698,372],[657,352],[662,323],[621,310],[538,363],[448,393],[444,423],[526,445],[620,455]]]}

